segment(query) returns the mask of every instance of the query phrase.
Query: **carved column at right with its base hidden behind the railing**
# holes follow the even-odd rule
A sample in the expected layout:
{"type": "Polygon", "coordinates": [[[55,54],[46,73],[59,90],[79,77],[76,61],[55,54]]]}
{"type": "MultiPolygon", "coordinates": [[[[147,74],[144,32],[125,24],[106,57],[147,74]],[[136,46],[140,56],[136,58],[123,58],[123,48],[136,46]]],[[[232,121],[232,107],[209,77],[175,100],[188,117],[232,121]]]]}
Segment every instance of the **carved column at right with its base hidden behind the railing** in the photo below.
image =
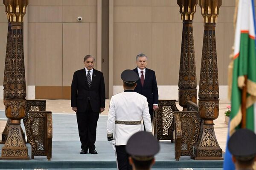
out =
{"type": "Polygon", "coordinates": [[[179,104],[187,111],[187,101],[197,103],[197,82],[195,69],[195,49],[193,18],[198,0],[177,0],[183,20],[180,52],[179,104]]]}

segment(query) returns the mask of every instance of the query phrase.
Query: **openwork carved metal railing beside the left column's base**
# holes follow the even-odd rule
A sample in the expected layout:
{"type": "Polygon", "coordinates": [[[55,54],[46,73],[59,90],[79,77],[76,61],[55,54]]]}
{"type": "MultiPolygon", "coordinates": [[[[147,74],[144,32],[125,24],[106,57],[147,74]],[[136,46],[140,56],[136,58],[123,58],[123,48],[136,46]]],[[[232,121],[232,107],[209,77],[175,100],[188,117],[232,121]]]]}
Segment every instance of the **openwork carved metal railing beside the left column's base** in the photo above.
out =
{"type": "Polygon", "coordinates": [[[23,122],[32,147],[32,159],[34,156],[47,156],[48,160],[52,157],[52,115],[45,109],[45,100],[26,101],[23,122]]]}

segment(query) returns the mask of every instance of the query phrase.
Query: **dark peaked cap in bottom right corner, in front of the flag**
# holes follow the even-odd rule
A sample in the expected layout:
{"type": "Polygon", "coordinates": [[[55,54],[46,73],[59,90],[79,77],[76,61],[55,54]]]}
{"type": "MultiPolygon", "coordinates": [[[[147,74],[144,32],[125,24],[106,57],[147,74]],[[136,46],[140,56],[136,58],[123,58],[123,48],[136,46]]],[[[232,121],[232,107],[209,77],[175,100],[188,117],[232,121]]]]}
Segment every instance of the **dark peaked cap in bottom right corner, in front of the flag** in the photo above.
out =
{"type": "Polygon", "coordinates": [[[228,149],[239,160],[250,160],[256,156],[256,134],[248,129],[239,129],[230,137],[228,149]]]}

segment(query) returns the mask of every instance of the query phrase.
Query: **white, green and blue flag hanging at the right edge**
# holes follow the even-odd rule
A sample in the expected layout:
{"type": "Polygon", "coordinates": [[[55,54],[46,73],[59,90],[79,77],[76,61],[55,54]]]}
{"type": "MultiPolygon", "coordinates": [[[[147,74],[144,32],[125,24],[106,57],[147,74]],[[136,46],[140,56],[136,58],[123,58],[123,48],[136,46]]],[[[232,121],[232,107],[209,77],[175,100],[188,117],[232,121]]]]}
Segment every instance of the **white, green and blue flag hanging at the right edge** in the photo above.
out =
{"type": "MultiPolygon", "coordinates": [[[[233,57],[233,78],[231,89],[231,114],[227,141],[242,120],[242,87],[247,87],[246,128],[256,133],[256,40],[255,12],[253,0],[239,0],[233,57]],[[245,77],[247,76],[247,84],[245,77]]],[[[224,170],[234,170],[231,154],[226,148],[224,170]]]]}

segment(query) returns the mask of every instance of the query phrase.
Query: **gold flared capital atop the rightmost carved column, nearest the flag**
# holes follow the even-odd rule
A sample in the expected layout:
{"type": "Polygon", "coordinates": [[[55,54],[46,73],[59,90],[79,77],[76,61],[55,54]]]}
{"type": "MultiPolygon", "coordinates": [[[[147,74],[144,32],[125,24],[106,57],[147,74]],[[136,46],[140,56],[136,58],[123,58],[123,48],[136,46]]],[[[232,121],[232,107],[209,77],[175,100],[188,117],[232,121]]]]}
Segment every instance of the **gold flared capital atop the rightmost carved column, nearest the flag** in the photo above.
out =
{"type": "Polygon", "coordinates": [[[199,0],[204,23],[217,23],[222,0],[199,0]]]}

